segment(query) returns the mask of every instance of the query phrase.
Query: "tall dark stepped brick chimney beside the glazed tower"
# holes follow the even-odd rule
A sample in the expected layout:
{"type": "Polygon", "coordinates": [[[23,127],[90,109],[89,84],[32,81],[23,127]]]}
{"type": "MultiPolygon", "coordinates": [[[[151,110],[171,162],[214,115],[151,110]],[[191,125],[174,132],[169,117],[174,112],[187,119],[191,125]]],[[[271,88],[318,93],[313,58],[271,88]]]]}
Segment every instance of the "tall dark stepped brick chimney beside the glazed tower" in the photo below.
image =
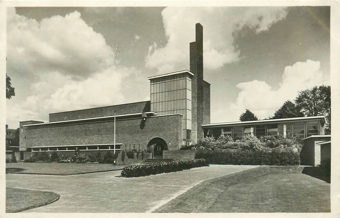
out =
{"type": "Polygon", "coordinates": [[[200,23],[196,23],[196,41],[190,43],[190,72],[194,74],[191,81],[191,143],[195,144],[203,139],[203,26],[200,23]]]}

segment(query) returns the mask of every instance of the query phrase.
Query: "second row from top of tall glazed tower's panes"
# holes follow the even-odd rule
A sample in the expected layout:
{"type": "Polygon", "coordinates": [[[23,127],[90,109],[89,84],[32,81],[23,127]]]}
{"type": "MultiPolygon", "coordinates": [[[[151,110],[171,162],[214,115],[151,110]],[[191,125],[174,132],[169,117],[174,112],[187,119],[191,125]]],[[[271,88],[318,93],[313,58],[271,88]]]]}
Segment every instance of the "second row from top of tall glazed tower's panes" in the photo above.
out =
{"type": "Polygon", "coordinates": [[[151,103],[155,102],[165,102],[165,101],[174,101],[178,99],[189,99],[191,100],[191,91],[188,89],[180,89],[169,92],[159,92],[151,94],[150,99],[151,103]]]}

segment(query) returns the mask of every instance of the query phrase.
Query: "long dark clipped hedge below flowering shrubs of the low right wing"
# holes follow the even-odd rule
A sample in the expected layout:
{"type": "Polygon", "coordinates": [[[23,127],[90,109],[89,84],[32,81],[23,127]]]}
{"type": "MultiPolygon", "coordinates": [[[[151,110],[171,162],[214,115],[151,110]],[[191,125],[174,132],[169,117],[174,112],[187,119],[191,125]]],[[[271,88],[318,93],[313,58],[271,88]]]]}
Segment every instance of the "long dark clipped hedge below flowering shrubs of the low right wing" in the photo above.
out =
{"type": "Polygon", "coordinates": [[[300,165],[299,153],[293,149],[272,150],[198,150],[195,159],[204,158],[208,164],[233,164],[233,165],[275,165],[295,166],[300,165]]]}

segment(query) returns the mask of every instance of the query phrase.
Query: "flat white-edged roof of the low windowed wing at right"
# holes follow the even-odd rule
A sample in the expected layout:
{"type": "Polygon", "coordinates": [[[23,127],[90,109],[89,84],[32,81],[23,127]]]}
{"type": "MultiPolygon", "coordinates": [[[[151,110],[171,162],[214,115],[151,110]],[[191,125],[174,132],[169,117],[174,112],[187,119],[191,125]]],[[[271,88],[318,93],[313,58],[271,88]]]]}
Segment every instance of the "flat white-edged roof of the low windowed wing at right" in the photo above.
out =
{"type": "Polygon", "coordinates": [[[262,123],[275,123],[275,122],[285,122],[285,121],[303,121],[321,119],[325,123],[325,116],[306,116],[306,117],[294,117],[294,118],[283,118],[283,119],[271,119],[271,120],[255,120],[255,121],[238,121],[238,122],[228,122],[228,123],[211,123],[202,124],[202,127],[213,127],[213,126],[232,126],[232,125],[244,125],[244,124],[262,124],[262,123]]]}

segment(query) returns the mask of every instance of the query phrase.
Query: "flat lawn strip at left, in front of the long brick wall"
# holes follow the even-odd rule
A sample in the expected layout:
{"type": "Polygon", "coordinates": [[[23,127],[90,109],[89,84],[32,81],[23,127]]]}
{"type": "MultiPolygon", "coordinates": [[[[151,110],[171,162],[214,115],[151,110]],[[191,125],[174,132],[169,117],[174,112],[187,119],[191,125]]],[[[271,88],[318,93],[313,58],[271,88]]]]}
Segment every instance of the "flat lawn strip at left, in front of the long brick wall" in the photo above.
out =
{"type": "Polygon", "coordinates": [[[98,163],[6,163],[6,173],[75,175],[122,169],[125,165],[98,163]]]}

